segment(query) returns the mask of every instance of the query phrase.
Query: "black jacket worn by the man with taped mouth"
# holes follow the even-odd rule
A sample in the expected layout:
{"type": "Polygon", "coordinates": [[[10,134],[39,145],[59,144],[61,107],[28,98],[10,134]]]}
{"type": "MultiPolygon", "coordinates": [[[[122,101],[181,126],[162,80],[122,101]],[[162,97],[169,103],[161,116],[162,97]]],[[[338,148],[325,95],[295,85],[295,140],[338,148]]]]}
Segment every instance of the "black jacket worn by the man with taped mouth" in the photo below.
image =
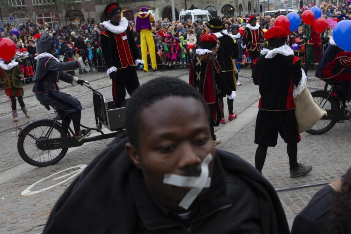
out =
{"type": "Polygon", "coordinates": [[[120,133],[70,184],[43,234],[289,233],[273,187],[238,156],[216,152],[211,187],[184,222],[150,197],[126,142],[120,133]]]}

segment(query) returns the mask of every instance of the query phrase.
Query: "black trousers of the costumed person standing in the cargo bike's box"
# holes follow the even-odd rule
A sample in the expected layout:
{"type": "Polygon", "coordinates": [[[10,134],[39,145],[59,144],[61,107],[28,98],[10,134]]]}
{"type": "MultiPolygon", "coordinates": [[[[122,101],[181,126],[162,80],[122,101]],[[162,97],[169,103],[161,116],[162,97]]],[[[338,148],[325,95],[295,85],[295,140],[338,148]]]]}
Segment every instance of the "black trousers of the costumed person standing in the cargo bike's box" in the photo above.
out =
{"type": "Polygon", "coordinates": [[[126,90],[129,95],[132,95],[140,84],[134,66],[119,69],[116,74],[117,78],[112,80],[112,96],[118,108],[126,99],[126,90]]]}

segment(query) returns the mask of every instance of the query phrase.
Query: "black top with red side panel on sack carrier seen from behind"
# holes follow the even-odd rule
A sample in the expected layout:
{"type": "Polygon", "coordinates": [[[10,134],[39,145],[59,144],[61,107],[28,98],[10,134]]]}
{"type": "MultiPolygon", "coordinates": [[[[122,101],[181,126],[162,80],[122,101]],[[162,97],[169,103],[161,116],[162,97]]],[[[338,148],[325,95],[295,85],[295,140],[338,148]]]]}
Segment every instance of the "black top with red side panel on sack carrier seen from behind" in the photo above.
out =
{"type": "Polygon", "coordinates": [[[259,86],[262,110],[291,110],[295,108],[293,85],[301,80],[300,58],[277,54],[267,59],[261,55],[253,61],[253,83],[259,86]]]}

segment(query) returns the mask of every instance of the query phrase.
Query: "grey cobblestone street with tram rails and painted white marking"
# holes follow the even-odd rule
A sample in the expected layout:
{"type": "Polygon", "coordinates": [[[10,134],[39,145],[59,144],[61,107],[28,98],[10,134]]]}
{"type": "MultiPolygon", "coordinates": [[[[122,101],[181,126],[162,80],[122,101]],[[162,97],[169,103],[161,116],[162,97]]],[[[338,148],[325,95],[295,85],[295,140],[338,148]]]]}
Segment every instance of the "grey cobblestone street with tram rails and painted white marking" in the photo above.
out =
{"type": "MultiPolygon", "coordinates": [[[[189,69],[175,69],[158,72],[138,72],[141,84],[160,76],[179,77],[188,81],[189,69]]],[[[309,71],[313,77],[314,70],[309,71]]],[[[78,71],[76,71],[78,73],[78,71]]],[[[241,69],[237,97],[234,99],[234,112],[238,118],[229,122],[228,108],[224,102],[226,124],[221,124],[215,131],[223,142],[218,149],[227,150],[244,158],[254,165],[257,145],[254,141],[254,129],[259,99],[258,86],[250,80],[251,69],[241,69]],[[221,138],[222,139],[222,138],[221,138]]],[[[87,73],[77,75],[90,81],[91,87],[112,99],[111,80],[106,73],[87,73]]],[[[95,119],[92,106],[92,92],[80,85],[59,82],[60,89],[77,97],[83,106],[82,124],[94,127],[95,119]]],[[[307,81],[311,89],[323,89],[324,82],[313,78],[307,81]]],[[[52,118],[53,110],[46,110],[40,105],[32,92],[33,83],[25,85],[24,102],[31,118],[26,118],[19,111],[17,125],[42,118],[52,118]]],[[[4,91],[0,91],[0,233],[40,233],[55,202],[67,186],[82,169],[101,152],[112,139],[86,143],[81,147],[69,149],[66,156],[57,164],[48,167],[34,167],[25,163],[17,151],[15,123],[12,121],[11,108],[4,91]]],[[[304,177],[290,178],[289,160],[286,144],[278,138],[275,148],[269,148],[263,168],[263,175],[278,192],[291,228],[298,214],[312,196],[324,185],[343,175],[351,165],[350,138],[345,137],[351,131],[349,121],[337,123],[329,132],[322,135],[301,134],[298,144],[298,161],[313,166],[312,172],[304,177]],[[322,185],[321,185],[322,184],[322,185]],[[300,186],[301,188],[291,189],[300,186]],[[312,187],[313,186],[313,187],[312,187]]],[[[18,134],[18,131],[17,131],[18,134]]]]}

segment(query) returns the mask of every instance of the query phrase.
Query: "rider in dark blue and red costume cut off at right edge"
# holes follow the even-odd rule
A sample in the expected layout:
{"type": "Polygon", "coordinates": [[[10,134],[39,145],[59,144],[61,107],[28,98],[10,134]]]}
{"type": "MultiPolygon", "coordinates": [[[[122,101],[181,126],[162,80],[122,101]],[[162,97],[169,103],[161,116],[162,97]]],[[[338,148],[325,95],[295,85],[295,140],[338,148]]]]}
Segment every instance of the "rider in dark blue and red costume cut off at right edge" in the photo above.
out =
{"type": "Polygon", "coordinates": [[[332,37],[318,64],[316,77],[327,83],[346,84],[346,103],[351,106],[351,52],[338,47],[332,37]]]}

